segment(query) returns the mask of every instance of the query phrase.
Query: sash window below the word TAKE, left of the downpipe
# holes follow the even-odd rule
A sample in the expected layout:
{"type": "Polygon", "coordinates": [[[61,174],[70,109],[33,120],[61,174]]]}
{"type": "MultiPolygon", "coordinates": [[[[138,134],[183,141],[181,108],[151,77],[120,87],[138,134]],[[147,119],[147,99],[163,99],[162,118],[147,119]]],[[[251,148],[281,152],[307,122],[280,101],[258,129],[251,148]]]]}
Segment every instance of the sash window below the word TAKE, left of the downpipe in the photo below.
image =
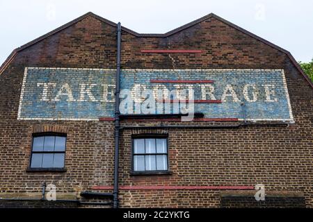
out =
{"type": "Polygon", "coordinates": [[[33,135],[31,169],[64,168],[66,135],[33,135]]]}

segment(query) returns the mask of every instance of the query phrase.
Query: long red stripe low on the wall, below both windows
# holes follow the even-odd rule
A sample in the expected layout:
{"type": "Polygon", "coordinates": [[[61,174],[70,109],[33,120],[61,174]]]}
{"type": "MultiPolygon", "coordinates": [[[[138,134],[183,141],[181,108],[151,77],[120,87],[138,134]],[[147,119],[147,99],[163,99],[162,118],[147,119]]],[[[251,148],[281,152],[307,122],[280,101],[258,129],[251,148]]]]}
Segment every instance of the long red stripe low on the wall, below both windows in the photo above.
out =
{"type": "MultiPolygon", "coordinates": [[[[94,190],[101,190],[101,189],[113,189],[113,186],[94,186],[91,187],[94,190]]],[[[255,189],[253,186],[168,186],[168,185],[152,185],[152,186],[120,186],[121,190],[164,190],[164,189],[255,189]]]]}

